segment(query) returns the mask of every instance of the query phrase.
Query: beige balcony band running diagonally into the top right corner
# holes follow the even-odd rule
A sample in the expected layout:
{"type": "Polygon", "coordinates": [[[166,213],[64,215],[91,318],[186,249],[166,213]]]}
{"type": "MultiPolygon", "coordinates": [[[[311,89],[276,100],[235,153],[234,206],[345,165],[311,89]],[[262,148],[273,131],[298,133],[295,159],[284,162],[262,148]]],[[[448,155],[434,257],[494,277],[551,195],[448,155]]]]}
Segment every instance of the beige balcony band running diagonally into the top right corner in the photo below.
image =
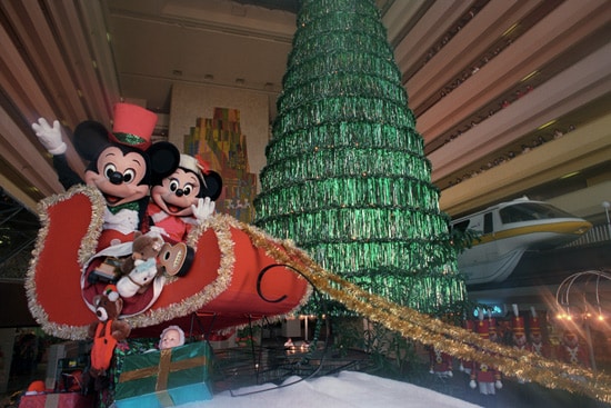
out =
{"type": "Polygon", "coordinates": [[[512,42],[475,76],[418,118],[418,130],[424,142],[429,145],[442,137],[490,101],[497,99],[500,103],[503,94],[520,83],[522,78],[608,24],[608,13],[609,2],[605,0],[565,1],[560,4],[535,24],[528,36],[512,42]],[[567,20],[567,16],[571,16],[571,19],[567,20]]]}

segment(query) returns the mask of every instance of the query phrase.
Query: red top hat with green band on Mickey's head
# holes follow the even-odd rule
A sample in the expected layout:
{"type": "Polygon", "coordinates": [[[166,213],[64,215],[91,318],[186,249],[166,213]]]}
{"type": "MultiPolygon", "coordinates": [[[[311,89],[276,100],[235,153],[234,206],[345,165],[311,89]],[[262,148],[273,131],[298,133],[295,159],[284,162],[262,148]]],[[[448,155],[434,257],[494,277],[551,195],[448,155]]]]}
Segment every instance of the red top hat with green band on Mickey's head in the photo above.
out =
{"type": "Polygon", "coordinates": [[[152,145],[157,115],[138,105],[117,103],[110,140],[147,150],[152,145]]]}

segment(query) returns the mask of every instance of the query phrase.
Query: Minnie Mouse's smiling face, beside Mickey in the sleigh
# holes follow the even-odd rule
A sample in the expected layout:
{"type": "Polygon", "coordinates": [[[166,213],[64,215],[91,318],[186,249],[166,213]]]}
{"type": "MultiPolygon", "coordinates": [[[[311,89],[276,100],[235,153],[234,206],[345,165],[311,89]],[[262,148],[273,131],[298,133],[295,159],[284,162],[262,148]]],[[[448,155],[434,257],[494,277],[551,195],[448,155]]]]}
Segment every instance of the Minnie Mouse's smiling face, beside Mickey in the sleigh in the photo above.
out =
{"type": "Polygon", "coordinates": [[[176,217],[192,216],[191,206],[198,205],[200,193],[198,177],[181,168],[151,189],[151,198],[164,212],[176,217]]]}

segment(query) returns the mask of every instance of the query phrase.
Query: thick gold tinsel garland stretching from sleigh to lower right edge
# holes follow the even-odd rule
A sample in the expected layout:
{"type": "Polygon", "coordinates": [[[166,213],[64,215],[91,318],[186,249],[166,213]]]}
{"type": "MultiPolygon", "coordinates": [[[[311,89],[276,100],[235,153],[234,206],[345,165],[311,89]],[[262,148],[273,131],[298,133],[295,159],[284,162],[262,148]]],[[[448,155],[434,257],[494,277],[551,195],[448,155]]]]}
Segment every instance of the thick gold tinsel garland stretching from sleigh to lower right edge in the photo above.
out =
{"type": "MultiPolygon", "coordinates": [[[[262,239],[269,239],[256,228],[246,231],[256,243],[262,239]]],[[[274,248],[268,248],[272,252],[271,256],[300,270],[317,289],[388,329],[457,358],[495,366],[510,377],[611,402],[611,377],[605,374],[553,361],[530,351],[517,350],[482,339],[475,332],[448,325],[439,319],[431,319],[428,315],[365,292],[357,285],[321,268],[302,250],[297,249],[290,240],[286,242],[284,249],[287,252],[281,253],[274,248]],[[292,265],[291,259],[299,259],[307,268],[303,270],[292,265]]]]}

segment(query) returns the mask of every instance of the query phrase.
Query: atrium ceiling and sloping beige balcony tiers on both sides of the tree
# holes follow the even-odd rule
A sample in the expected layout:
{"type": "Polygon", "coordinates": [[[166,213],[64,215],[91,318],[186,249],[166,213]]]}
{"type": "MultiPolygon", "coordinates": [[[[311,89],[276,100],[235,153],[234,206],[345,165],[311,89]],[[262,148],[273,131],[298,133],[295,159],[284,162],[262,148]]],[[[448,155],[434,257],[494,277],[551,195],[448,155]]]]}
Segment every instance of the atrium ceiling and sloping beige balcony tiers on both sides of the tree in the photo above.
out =
{"type": "MultiPolygon", "coordinates": [[[[601,202],[611,199],[611,2],[377,3],[444,211],[458,216],[528,195],[603,222],[601,202]]],[[[83,119],[109,123],[114,102],[136,100],[161,113],[163,136],[172,132],[171,87],[186,83],[263,92],[271,122],[298,4],[0,2],[3,200],[36,212],[40,199],[62,191],[30,129],[39,117],[59,118],[70,138],[83,119]]],[[[68,158],[83,169],[72,146],[68,158]]]]}

